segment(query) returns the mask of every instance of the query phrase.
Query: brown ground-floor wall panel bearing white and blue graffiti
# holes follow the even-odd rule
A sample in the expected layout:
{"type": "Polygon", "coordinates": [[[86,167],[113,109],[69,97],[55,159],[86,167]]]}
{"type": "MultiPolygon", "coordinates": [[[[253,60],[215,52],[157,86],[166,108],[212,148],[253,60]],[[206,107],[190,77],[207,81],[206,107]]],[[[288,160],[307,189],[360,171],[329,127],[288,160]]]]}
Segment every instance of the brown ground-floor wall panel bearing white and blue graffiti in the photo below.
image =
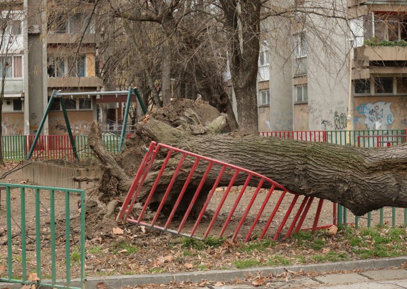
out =
{"type": "Polygon", "coordinates": [[[407,96],[355,97],[356,130],[407,129],[407,96]]]}

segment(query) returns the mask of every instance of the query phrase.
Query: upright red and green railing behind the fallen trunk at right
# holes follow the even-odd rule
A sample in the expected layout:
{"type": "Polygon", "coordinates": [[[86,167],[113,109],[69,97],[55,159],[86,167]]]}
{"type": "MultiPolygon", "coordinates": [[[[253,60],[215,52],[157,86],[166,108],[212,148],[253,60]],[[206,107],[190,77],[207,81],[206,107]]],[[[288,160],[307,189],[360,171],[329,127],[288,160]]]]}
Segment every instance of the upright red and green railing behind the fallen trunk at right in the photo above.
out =
{"type": "MultiPolygon", "coordinates": [[[[274,136],[280,138],[289,138],[305,141],[325,141],[342,146],[353,146],[363,148],[390,147],[399,145],[407,141],[407,130],[351,130],[351,131],[260,131],[260,135],[274,136]],[[321,140],[324,139],[324,140],[321,140]]],[[[346,226],[347,216],[350,215],[347,209],[337,205],[338,225],[346,226]]],[[[372,219],[378,219],[379,226],[384,227],[389,224],[385,219],[385,212],[391,210],[391,226],[397,226],[396,216],[403,214],[402,225],[407,227],[407,209],[400,208],[382,208],[378,211],[369,212],[366,216],[351,216],[355,219],[355,227],[359,227],[360,220],[366,219],[366,226],[371,227],[372,219]],[[399,211],[399,212],[397,212],[399,211]],[[402,212],[401,212],[402,211],[402,212]],[[379,212],[379,213],[377,213],[379,212]]]]}

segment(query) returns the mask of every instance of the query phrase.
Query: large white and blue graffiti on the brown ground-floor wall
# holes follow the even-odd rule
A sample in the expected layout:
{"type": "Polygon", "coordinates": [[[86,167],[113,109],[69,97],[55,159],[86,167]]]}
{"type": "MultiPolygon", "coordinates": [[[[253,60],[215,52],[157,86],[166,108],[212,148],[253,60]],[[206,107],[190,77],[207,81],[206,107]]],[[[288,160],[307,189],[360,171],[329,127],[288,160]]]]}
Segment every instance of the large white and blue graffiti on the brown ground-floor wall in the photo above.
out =
{"type": "Polygon", "coordinates": [[[391,128],[394,122],[390,102],[363,103],[356,107],[356,111],[364,115],[364,123],[369,129],[391,128]]]}

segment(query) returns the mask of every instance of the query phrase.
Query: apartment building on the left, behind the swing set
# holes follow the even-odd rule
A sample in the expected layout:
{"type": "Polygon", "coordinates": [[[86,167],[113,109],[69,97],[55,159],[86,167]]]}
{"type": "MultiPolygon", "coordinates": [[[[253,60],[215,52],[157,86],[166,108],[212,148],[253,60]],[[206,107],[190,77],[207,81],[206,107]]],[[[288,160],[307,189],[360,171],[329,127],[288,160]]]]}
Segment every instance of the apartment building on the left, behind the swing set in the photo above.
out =
{"type": "MultiPolygon", "coordinates": [[[[6,71],[4,135],[36,133],[53,90],[101,90],[103,81],[96,75],[95,57],[99,38],[90,20],[93,4],[81,3],[79,7],[74,1],[24,0],[2,12],[3,22],[7,22],[3,41],[11,43],[7,53],[1,51],[2,59],[7,59],[0,67],[6,71]]],[[[88,133],[90,123],[97,119],[95,97],[68,97],[65,106],[73,133],[88,133]]],[[[57,99],[44,124],[44,134],[67,134],[57,99]]]]}

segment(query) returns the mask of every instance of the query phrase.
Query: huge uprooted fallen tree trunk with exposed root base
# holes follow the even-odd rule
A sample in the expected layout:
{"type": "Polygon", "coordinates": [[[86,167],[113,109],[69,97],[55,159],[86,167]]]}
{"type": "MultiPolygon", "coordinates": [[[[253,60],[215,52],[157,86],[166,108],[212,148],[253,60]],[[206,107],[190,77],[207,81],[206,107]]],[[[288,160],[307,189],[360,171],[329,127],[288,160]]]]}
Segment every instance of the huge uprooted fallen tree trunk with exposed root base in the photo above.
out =
{"type": "MultiPolygon", "coordinates": [[[[126,148],[113,157],[104,149],[101,130],[94,122],[89,145],[105,171],[100,182],[101,199],[105,203],[120,203],[133,181],[145,148],[154,140],[250,169],[291,192],[334,201],[359,216],[382,207],[407,207],[406,145],[364,149],[240,132],[219,134],[226,124],[227,115],[220,114],[207,103],[178,99],[138,123],[135,133],[126,141],[126,148]]],[[[162,158],[156,160],[157,167],[160,162],[162,158]]],[[[192,163],[183,166],[170,196],[180,192],[191,166],[192,163]]],[[[194,176],[201,176],[205,168],[198,165],[194,176]]],[[[147,185],[139,195],[141,203],[151,188],[148,184],[155,181],[157,170],[154,171],[154,166],[152,170],[153,174],[148,176],[147,185]]],[[[168,184],[171,177],[171,171],[166,171],[160,184],[168,184]]],[[[208,176],[208,185],[199,195],[196,208],[205,201],[216,178],[216,171],[208,176]]],[[[189,204],[199,181],[200,178],[191,180],[180,210],[189,204]]],[[[245,178],[238,178],[235,185],[242,185],[244,181],[245,178]]],[[[219,186],[227,184],[221,181],[219,186]]],[[[152,204],[159,201],[160,193],[163,193],[160,190],[165,188],[164,185],[157,188],[155,197],[158,199],[153,199],[152,204]]],[[[175,199],[168,198],[169,207],[175,199]]]]}

